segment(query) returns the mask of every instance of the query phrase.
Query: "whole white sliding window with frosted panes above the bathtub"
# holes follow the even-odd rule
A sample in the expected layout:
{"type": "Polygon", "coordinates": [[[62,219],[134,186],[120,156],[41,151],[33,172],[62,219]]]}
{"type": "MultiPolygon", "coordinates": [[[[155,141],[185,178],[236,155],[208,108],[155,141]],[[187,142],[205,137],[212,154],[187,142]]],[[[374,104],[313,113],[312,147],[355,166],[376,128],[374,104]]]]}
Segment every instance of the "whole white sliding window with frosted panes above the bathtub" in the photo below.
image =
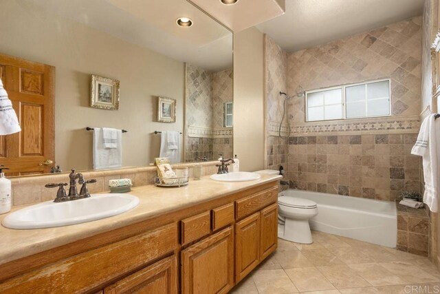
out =
{"type": "Polygon", "coordinates": [[[307,121],[391,115],[390,80],[306,92],[307,121]]]}

